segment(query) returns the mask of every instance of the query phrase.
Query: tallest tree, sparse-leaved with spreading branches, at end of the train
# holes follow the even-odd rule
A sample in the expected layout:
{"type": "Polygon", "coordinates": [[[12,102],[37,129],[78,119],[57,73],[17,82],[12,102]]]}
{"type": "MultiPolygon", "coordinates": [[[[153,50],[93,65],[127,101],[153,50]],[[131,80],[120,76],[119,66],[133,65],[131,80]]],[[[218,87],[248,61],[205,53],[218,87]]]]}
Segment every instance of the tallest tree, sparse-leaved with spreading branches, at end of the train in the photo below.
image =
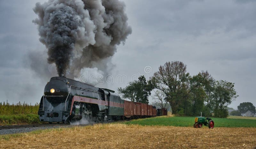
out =
{"type": "Polygon", "coordinates": [[[176,114],[182,99],[187,98],[188,78],[187,66],[182,62],[174,61],[160,65],[159,71],[154,73],[149,82],[155,89],[165,93],[172,112],[176,114]]]}

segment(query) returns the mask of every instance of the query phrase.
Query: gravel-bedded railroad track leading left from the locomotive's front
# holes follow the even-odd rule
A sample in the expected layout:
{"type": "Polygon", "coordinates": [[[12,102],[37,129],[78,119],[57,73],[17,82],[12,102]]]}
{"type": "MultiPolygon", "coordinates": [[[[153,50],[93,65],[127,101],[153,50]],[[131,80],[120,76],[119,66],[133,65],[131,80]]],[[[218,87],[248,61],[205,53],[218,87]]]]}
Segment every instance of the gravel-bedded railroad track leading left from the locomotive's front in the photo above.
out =
{"type": "Polygon", "coordinates": [[[70,123],[8,125],[8,126],[0,126],[0,130],[2,130],[2,129],[14,129],[14,128],[29,128],[29,127],[44,127],[44,126],[60,126],[60,125],[70,125],[70,123]]]}

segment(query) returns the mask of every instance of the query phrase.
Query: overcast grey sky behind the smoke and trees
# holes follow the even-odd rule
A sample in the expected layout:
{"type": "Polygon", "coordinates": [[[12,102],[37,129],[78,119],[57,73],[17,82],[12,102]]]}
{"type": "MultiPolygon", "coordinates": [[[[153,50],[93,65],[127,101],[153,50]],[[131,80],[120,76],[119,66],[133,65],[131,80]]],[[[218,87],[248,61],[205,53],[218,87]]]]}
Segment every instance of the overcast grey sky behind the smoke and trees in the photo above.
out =
{"type": "MultiPolygon", "coordinates": [[[[28,54],[46,54],[39,42],[35,0],[0,1],[0,102],[40,102],[49,78],[31,70],[28,54]]],[[[44,1],[40,1],[44,2],[44,1]]],[[[216,80],[235,83],[239,97],[229,107],[252,102],[256,68],[256,1],[126,0],[132,34],[112,57],[112,75],[150,77],[167,61],[182,61],[196,75],[207,70],[216,80]],[[149,73],[144,68],[152,69],[149,73]]],[[[44,71],[35,59],[32,64],[44,71]]],[[[50,69],[50,68],[49,68],[50,69]]],[[[52,76],[53,77],[53,76],[52,76]]],[[[116,91],[127,84],[99,85],[116,91]]],[[[153,92],[152,92],[153,93],[153,92]]],[[[150,98],[150,102],[152,102],[150,98]]]]}

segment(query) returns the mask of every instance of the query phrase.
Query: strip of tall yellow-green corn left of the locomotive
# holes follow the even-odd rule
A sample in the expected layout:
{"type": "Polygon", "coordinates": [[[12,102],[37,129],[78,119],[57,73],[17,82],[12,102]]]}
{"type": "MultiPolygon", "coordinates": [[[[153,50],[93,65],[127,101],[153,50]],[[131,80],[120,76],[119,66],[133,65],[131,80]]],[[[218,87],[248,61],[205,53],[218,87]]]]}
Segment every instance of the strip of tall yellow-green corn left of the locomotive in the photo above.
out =
{"type": "Polygon", "coordinates": [[[0,102],[0,115],[16,115],[16,114],[37,114],[39,104],[31,105],[28,103],[10,104],[8,101],[0,102]]]}

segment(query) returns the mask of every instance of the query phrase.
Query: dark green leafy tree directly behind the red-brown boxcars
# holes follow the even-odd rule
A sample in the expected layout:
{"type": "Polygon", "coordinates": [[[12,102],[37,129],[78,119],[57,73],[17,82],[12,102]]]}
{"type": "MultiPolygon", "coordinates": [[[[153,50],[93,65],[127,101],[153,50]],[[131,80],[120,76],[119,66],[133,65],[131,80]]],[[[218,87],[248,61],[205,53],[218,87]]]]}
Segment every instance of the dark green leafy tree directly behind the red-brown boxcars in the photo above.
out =
{"type": "Polygon", "coordinates": [[[117,88],[117,91],[123,98],[148,104],[148,96],[151,95],[152,87],[148,85],[144,76],[138,79],[130,82],[125,88],[117,88]]]}

